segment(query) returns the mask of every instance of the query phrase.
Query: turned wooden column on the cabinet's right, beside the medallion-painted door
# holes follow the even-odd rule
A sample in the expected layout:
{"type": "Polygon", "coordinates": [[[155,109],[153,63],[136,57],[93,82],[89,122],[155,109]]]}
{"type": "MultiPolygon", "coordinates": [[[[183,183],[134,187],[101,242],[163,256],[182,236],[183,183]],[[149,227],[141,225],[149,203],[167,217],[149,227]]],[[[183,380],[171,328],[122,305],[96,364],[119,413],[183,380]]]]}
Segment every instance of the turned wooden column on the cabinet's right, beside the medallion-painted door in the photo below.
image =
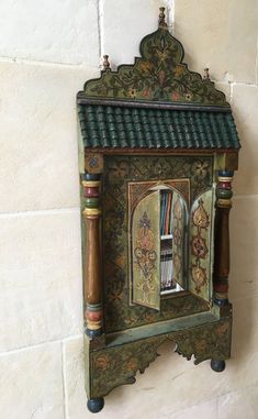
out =
{"type": "Polygon", "coordinates": [[[214,229],[214,302],[228,304],[229,274],[229,211],[232,208],[233,170],[218,170],[216,186],[216,213],[214,229]]]}

